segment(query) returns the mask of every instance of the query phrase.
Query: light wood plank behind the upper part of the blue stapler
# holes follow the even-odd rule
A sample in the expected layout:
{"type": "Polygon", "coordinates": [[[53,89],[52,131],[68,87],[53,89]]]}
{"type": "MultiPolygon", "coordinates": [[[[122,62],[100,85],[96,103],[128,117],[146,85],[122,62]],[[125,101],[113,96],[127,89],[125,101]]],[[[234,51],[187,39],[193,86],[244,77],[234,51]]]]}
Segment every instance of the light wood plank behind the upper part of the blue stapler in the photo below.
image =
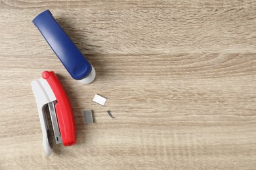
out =
{"type": "MultiPolygon", "coordinates": [[[[32,24],[42,9],[1,10],[1,53],[52,54],[32,24]],[[9,41],[9,40],[12,41],[9,41]]],[[[53,9],[83,54],[250,53],[256,8],[53,9]],[[214,48],[213,48],[214,47],[214,48]]]]}

